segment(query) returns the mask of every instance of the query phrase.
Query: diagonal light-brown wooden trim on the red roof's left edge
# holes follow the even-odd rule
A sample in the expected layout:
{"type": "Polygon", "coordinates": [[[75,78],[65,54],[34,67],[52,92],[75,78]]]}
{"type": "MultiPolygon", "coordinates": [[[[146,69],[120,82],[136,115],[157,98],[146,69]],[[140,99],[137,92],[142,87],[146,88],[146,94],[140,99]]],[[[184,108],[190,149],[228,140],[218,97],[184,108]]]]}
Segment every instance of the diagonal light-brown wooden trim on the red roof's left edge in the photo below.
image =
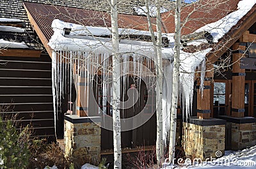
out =
{"type": "Polygon", "coordinates": [[[33,29],[35,29],[36,34],[38,35],[38,37],[40,38],[40,40],[42,41],[45,49],[47,50],[48,54],[50,55],[50,57],[52,57],[52,48],[48,45],[49,40],[47,40],[47,38],[45,37],[44,33],[42,32],[42,30],[40,29],[40,27],[38,26],[38,24],[36,23],[36,20],[33,18],[33,16],[31,15],[31,13],[29,12],[28,8],[26,7],[26,5],[23,3],[24,9],[26,10],[27,14],[28,14],[28,20],[31,23],[31,25],[33,26],[33,29]]]}

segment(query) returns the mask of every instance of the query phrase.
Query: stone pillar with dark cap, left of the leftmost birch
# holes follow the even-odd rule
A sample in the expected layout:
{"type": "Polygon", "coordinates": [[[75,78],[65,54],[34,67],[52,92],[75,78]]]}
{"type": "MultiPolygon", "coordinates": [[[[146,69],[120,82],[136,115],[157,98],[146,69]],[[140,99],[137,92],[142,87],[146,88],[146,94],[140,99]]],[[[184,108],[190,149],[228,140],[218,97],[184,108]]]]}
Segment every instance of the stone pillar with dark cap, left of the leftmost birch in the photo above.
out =
{"type": "Polygon", "coordinates": [[[76,168],[85,163],[100,163],[100,117],[65,115],[65,157],[76,168]]]}

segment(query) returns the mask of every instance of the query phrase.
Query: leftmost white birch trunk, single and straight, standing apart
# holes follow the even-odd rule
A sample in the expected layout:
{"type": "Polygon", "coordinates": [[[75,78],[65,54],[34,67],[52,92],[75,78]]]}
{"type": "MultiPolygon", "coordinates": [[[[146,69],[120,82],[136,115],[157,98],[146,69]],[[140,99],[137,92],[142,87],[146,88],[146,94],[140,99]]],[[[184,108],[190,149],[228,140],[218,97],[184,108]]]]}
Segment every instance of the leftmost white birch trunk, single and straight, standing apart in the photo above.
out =
{"type": "Polygon", "coordinates": [[[113,43],[113,141],[114,168],[122,168],[121,126],[120,126],[120,54],[118,38],[117,2],[111,0],[111,31],[113,43]]]}

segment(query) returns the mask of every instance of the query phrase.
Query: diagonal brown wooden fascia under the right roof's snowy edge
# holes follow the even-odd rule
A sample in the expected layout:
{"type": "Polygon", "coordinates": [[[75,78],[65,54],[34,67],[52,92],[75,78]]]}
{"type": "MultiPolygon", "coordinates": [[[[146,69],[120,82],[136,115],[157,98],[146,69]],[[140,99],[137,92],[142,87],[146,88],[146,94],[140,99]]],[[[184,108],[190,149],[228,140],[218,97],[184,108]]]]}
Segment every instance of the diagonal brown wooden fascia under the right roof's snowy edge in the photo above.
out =
{"type": "MultiPolygon", "coordinates": [[[[250,11],[249,11],[250,12],[250,11]]],[[[230,48],[239,38],[243,35],[245,31],[247,31],[254,23],[256,22],[256,10],[253,11],[253,13],[243,21],[243,24],[239,27],[239,29],[230,31],[226,34],[225,37],[230,37],[230,41],[228,43],[225,43],[225,47],[222,47],[220,50],[217,50],[216,52],[210,52],[206,55],[209,62],[216,62],[221,55],[223,55],[226,52],[227,48],[230,48]]],[[[223,40],[219,41],[218,44],[223,43],[223,41],[226,41],[225,38],[223,40]]]]}

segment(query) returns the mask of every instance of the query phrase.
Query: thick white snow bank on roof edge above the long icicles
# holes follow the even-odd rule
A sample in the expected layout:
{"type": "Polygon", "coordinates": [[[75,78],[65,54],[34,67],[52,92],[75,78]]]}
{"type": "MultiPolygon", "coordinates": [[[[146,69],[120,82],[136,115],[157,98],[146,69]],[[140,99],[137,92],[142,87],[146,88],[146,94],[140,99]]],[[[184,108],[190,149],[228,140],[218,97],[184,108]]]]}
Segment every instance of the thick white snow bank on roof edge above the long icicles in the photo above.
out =
{"type": "MultiPolygon", "coordinates": [[[[54,30],[54,34],[51,40],[49,40],[48,45],[53,50],[93,52],[99,54],[112,54],[113,52],[111,38],[93,37],[111,35],[108,27],[81,26],[56,19],[52,22],[52,29],[54,30]],[[65,35],[66,37],[63,35],[64,28],[71,29],[70,34],[65,35]]],[[[150,35],[148,31],[139,31],[136,29],[118,30],[120,34],[150,35]]],[[[152,42],[120,40],[120,54],[127,53],[141,54],[152,58],[154,57],[152,42]]],[[[163,48],[162,54],[163,58],[172,57],[173,48],[163,48]]]]}

